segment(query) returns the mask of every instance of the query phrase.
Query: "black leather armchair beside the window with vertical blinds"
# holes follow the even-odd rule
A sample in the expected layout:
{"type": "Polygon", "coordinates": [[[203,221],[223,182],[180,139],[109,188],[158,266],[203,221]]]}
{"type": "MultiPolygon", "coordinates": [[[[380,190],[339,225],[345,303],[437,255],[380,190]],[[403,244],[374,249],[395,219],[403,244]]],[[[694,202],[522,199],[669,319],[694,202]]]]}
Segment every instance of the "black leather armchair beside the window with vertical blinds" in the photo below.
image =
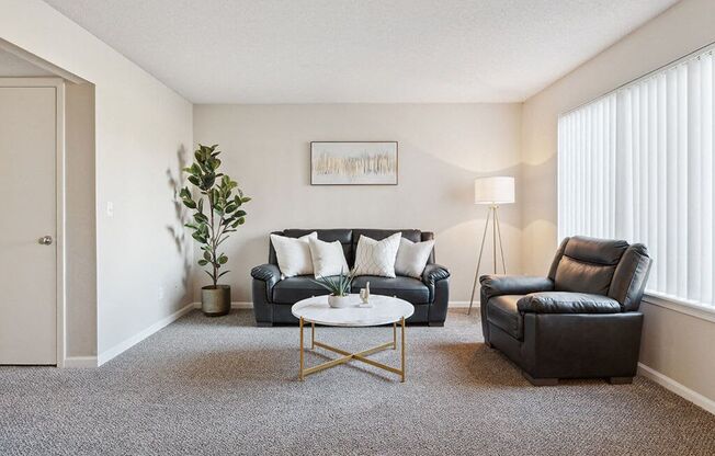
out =
{"type": "Polygon", "coordinates": [[[534,385],[583,377],[631,383],[650,265],[643,244],[572,237],[561,242],[547,277],[485,275],[485,343],[534,385]]]}

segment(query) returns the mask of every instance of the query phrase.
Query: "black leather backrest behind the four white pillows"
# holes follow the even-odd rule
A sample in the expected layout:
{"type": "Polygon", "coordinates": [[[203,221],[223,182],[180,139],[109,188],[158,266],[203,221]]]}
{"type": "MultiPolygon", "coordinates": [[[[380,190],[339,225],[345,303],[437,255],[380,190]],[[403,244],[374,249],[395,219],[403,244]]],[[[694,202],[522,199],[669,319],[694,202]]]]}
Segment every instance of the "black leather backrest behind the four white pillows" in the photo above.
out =
{"type": "MultiPolygon", "coordinates": [[[[376,240],[385,239],[388,236],[391,236],[396,232],[401,232],[402,237],[409,239],[412,242],[421,242],[427,240],[434,239],[434,233],[431,231],[420,231],[418,229],[347,229],[347,228],[334,228],[334,229],[285,229],[283,231],[274,231],[272,235],[287,236],[290,238],[299,238],[302,236],[308,235],[313,231],[318,232],[318,239],[326,242],[340,241],[342,244],[342,251],[345,254],[345,260],[350,267],[354,265],[355,262],[355,250],[358,249],[358,240],[361,235],[364,235],[368,238],[376,240]]],[[[275,249],[273,249],[273,243],[269,240],[269,263],[279,264],[277,259],[275,258],[275,249]]],[[[430,259],[428,263],[434,263],[434,249],[430,253],[430,259]]]]}

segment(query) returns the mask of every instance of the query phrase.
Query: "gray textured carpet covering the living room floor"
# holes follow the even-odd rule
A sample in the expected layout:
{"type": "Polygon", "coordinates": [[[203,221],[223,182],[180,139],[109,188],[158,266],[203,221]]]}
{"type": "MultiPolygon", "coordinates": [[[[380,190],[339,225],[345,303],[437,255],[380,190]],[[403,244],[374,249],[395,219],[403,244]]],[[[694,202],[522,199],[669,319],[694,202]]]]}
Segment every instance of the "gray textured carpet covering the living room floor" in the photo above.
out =
{"type": "MultiPolygon", "coordinates": [[[[194,311],[98,369],[0,367],[0,454],[715,454],[715,417],[646,379],[532,387],[463,310],[407,334],[406,384],[363,364],[299,383],[297,328],[247,310],[194,311]]],[[[359,350],[391,329],[318,339],[359,350]]]]}

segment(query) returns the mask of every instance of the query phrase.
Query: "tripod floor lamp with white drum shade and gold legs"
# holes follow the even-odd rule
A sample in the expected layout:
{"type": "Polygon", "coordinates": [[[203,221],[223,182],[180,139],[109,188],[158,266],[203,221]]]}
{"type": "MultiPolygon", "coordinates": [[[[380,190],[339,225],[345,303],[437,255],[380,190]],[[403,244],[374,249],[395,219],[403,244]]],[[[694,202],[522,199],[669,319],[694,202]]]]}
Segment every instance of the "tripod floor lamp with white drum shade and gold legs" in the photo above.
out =
{"type": "Polygon", "coordinates": [[[497,249],[501,253],[501,269],[507,273],[507,262],[504,260],[504,248],[501,242],[501,227],[499,226],[499,206],[502,204],[511,204],[514,202],[514,178],[510,176],[492,176],[479,178],[474,181],[474,204],[484,204],[489,206],[487,214],[487,221],[484,226],[484,233],[481,235],[481,244],[479,247],[479,258],[477,260],[477,267],[474,272],[474,284],[472,285],[472,298],[469,299],[469,310],[467,315],[472,314],[472,305],[474,304],[474,292],[477,289],[477,281],[479,280],[479,266],[481,266],[481,254],[484,253],[484,244],[487,240],[487,231],[489,230],[489,220],[491,220],[491,239],[493,243],[493,269],[495,274],[498,274],[497,263],[497,249]],[[498,246],[497,246],[498,244],[498,246]]]}

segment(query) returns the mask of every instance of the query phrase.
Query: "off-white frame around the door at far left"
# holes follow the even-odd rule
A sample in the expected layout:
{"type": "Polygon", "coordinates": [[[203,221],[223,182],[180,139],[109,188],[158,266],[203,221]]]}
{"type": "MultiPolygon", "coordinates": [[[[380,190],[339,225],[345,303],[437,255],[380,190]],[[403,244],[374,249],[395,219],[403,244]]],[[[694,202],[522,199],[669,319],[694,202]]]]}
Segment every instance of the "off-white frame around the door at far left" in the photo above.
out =
{"type": "Polygon", "coordinates": [[[55,89],[55,197],[56,197],[56,307],[57,307],[57,367],[65,367],[67,353],[66,331],[66,251],[65,251],[65,81],[61,78],[0,78],[2,88],[54,88],[55,89]]]}

